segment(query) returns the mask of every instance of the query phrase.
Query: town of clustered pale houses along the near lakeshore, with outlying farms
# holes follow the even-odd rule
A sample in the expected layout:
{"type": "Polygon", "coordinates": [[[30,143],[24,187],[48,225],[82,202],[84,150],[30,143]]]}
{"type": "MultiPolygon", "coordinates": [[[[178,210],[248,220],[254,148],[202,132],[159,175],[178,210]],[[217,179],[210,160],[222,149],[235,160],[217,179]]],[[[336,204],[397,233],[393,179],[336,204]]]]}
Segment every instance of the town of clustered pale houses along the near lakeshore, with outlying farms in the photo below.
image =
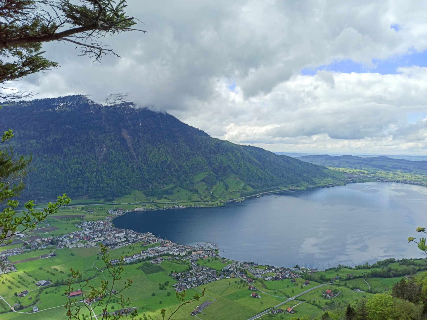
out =
{"type": "MultiPolygon", "coordinates": [[[[180,245],[164,239],[160,236],[155,236],[152,233],[138,233],[128,229],[118,229],[112,225],[112,218],[114,216],[123,214],[123,210],[117,210],[109,212],[109,216],[105,219],[97,221],[85,221],[82,219],[79,223],[75,224],[78,230],[71,231],[61,236],[39,236],[32,239],[27,237],[25,234],[19,234],[20,239],[23,241],[21,247],[15,247],[0,251],[0,274],[13,273],[17,271],[15,265],[9,261],[9,256],[15,256],[22,253],[51,249],[50,253],[44,253],[39,256],[39,259],[55,259],[57,250],[62,248],[91,248],[99,245],[108,247],[108,249],[118,249],[129,245],[140,245],[142,250],[139,253],[132,255],[123,255],[121,259],[112,259],[109,262],[111,265],[117,264],[135,264],[140,262],[149,262],[152,265],[161,264],[166,260],[181,260],[189,263],[187,271],[168,273],[170,277],[175,279],[173,287],[176,292],[189,290],[202,285],[206,285],[211,282],[218,280],[228,279],[237,285],[247,287],[249,290],[248,295],[252,298],[260,299],[260,289],[255,287],[254,281],[262,279],[263,281],[275,281],[275,280],[286,280],[290,283],[294,283],[300,278],[301,272],[317,272],[317,269],[306,269],[306,268],[285,268],[285,267],[274,267],[267,266],[265,268],[259,268],[256,263],[249,262],[238,262],[223,259],[219,256],[219,250],[216,244],[203,242],[202,244],[196,244],[195,246],[180,245]],[[206,265],[201,265],[199,262],[215,259],[224,264],[222,270],[218,271],[214,268],[210,268],[206,265]]],[[[46,221],[45,225],[46,225],[46,221]]],[[[49,224],[47,224],[49,225],[49,224]]],[[[304,285],[308,285],[310,282],[305,280],[304,285]]],[[[49,287],[53,283],[49,279],[37,279],[34,282],[35,287],[44,288],[49,287]]],[[[16,294],[17,297],[22,298],[29,294],[32,288],[26,288],[16,294]]],[[[69,292],[67,297],[76,298],[81,296],[84,299],[82,291],[69,292]]],[[[329,296],[328,296],[329,297],[329,296]]],[[[32,299],[30,296],[28,299],[32,299]]],[[[87,299],[86,299],[87,300],[87,299]]],[[[91,304],[95,301],[86,301],[85,303],[91,304]]],[[[83,300],[82,300],[83,301],[83,300]]],[[[205,301],[201,305],[197,306],[191,313],[192,315],[201,312],[203,308],[207,307],[211,302],[205,301]]],[[[21,308],[19,303],[15,303],[13,306],[15,310],[21,308]]],[[[37,305],[32,306],[32,312],[38,312],[39,308],[37,305]]],[[[129,310],[116,310],[114,314],[126,314],[131,312],[129,310]]],[[[293,313],[292,308],[282,310],[280,308],[274,309],[274,312],[281,313],[293,313]]]]}

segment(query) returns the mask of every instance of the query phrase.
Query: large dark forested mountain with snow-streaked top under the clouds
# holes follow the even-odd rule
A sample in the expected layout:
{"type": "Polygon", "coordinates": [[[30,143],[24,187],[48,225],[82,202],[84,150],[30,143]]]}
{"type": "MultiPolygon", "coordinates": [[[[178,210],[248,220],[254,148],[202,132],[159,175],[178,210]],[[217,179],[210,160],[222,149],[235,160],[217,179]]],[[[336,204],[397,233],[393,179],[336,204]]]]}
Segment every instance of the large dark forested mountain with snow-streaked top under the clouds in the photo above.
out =
{"type": "Polygon", "coordinates": [[[175,187],[196,192],[196,182],[214,186],[230,176],[259,190],[331,176],[321,166],[211,138],[170,114],[135,109],[125,100],[39,99],[3,105],[0,115],[1,128],[14,130],[15,151],[34,157],[26,197],[67,192],[105,198],[132,189],[167,194],[175,187]]]}

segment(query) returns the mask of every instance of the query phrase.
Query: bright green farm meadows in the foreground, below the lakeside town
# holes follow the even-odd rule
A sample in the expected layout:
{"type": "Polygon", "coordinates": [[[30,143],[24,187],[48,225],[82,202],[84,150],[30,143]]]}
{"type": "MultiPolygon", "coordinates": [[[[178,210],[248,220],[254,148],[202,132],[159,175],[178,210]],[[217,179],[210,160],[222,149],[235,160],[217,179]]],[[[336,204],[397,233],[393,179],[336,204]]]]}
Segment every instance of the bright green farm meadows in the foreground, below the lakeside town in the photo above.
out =
{"type": "MultiPolygon", "coordinates": [[[[75,207],[76,209],[76,207],[75,207]]],[[[64,209],[61,211],[69,211],[72,209],[64,209]]],[[[80,210],[79,210],[80,211],[80,210]]],[[[76,212],[70,212],[74,215],[76,212]]],[[[94,212],[95,213],[95,212],[94,212]]],[[[56,224],[60,229],[69,232],[72,230],[73,224],[78,219],[71,217],[53,218],[53,224],[56,224]],[[65,230],[67,229],[67,230],[65,230]]],[[[57,231],[57,230],[56,230],[57,231]]],[[[36,232],[37,233],[37,230],[36,232]]],[[[139,253],[140,250],[148,247],[155,246],[157,244],[143,245],[143,242],[127,245],[120,249],[110,250],[108,252],[108,259],[120,258],[120,256],[129,256],[135,253],[139,253]]],[[[16,244],[13,245],[16,247],[16,244]]],[[[68,286],[65,284],[68,275],[70,274],[70,268],[79,270],[82,272],[83,279],[88,279],[88,286],[99,288],[100,280],[105,279],[111,283],[111,275],[101,269],[105,265],[100,258],[100,250],[98,247],[89,248],[61,248],[56,249],[56,256],[48,259],[40,259],[41,254],[49,253],[53,248],[44,250],[33,250],[16,256],[10,256],[11,262],[15,263],[17,272],[4,274],[0,276],[2,285],[0,286],[0,295],[11,305],[20,303],[24,309],[21,312],[29,312],[32,310],[32,305],[37,305],[41,310],[39,311],[38,317],[43,319],[66,319],[65,308],[61,307],[67,302],[67,297],[64,292],[68,290],[68,286]],[[35,285],[40,280],[48,280],[52,284],[46,287],[39,288],[35,285]],[[23,291],[24,289],[29,291],[29,296],[19,298],[15,296],[15,293],[23,291]],[[32,297],[32,300],[28,298],[32,297]],[[58,307],[58,308],[56,308],[58,307]]],[[[227,260],[228,263],[232,262],[227,260]]],[[[221,271],[222,268],[228,265],[228,263],[221,263],[221,259],[209,258],[206,260],[199,260],[199,265],[206,265],[210,268],[214,268],[217,271],[221,271]]],[[[406,263],[415,265],[416,267],[425,267],[423,259],[411,260],[406,263]]],[[[405,265],[401,265],[398,262],[389,264],[389,267],[393,269],[405,268],[405,265]]],[[[260,266],[259,269],[263,269],[265,266],[260,266]]],[[[167,310],[175,309],[178,307],[178,300],[175,296],[175,287],[173,286],[176,282],[175,279],[169,276],[173,272],[182,272],[189,269],[188,261],[181,261],[170,259],[165,257],[165,260],[160,265],[151,265],[149,262],[138,262],[131,265],[123,266],[123,273],[121,274],[121,280],[119,280],[114,289],[120,291],[123,287],[123,281],[125,279],[132,279],[132,286],[126,289],[120,294],[129,297],[132,301],[132,306],[138,308],[138,312],[141,317],[143,314],[151,319],[161,320],[160,310],[166,308],[167,310]]],[[[271,319],[272,317],[278,319],[290,319],[295,315],[309,315],[318,316],[322,314],[322,308],[328,307],[330,303],[335,305],[345,306],[348,303],[354,303],[360,297],[369,297],[372,294],[368,292],[356,292],[353,288],[360,288],[362,290],[368,290],[368,285],[363,281],[363,278],[356,278],[356,276],[366,276],[374,269],[333,269],[329,271],[319,271],[316,273],[317,276],[324,274],[326,278],[332,278],[333,276],[339,275],[340,280],[335,283],[324,285],[320,288],[313,289],[302,296],[298,297],[295,301],[290,301],[282,305],[282,308],[289,306],[295,310],[294,315],[281,314],[272,316],[266,314],[262,316],[262,319],[271,319]],[[347,274],[351,274],[352,277],[347,277],[347,274]],[[326,289],[331,289],[334,293],[341,291],[338,296],[333,299],[325,299],[324,293],[326,289]]],[[[249,277],[255,279],[249,272],[249,277]]],[[[403,277],[396,278],[366,278],[366,281],[371,285],[371,289],[377,292],[387,291],[393,284],[400,281],[403,277]]],[[[270,308],[274,305],[278,305],[286,301],[289,297],[293,297],[310,288],[321,285],[319,282],[310,281],[309,285],[304,285],[304,279],[296,279],[295,283],[291,283],[290,279],[278,280],[278,281],[265,281],[263,279],[254,280],[253,285],[260,289],[257,293],[261,298],[251,297],[252,291],[248,290],[249,285],[240,278],[229,278],[222,279],[215,282],[210,282],[206,285],[198,287],[196,289],[187,290],[187,297],[192,297],[196,293],[200,293],[205,288],[205,297],[201,298],[201,301],[195,301],[191,304],[184,305],[179,309],[176,314],[176,319],[194,319],[190,316],[190,312],[202,302],[209,300],[214,301],[203,311],[205,314],[199,314],[201,319],[214,320],[222,319],[224,314],[227,315],[227,319],[243,319],[252,317],[254,314],[258,314],[261,311],[270,308]]],[[[84,285],[86,282],[82,282],[84,285]]],[[[74,288],[79,288],[77,284],[73,285],[74,288]]],[[[87,292],[89,287],[83,289],[87,292]]],[[[118,299],[112,297],[109,311],[114,311],[120,308],[118,299]]],[[[97,313],[101,312],[101,307],[95,307],[97,313]]],[[[0,303],[0,312],[8,311],[9,308],[5,303],[0,303]]],[[[26,313],[12,313],[6,312],[2,314],[2,319],[32,319],[34,314],[26,313]]]]}

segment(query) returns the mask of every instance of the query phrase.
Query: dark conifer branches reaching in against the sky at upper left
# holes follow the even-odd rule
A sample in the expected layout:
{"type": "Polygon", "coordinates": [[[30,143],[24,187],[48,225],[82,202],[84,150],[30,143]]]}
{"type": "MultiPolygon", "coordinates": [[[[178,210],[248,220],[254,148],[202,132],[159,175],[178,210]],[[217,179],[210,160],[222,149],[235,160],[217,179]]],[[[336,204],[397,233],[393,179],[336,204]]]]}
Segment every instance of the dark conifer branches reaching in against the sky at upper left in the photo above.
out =
{"type": "MultiPolygon", "coordinates": [[[[137,23],[126,16],[126,0],[0,0],[0,83],[58,67],[44,58],[41,44],[67,41],[80,48],[81,55],[94,61],[104,54],[117,55],[99,42],[106,35],[126,32],[137,23]]],[[[143,30],[138,30],[145,32],[143,30]]],[[[4,87],[3,87],[4,89],[4,87]]],[[[29,93],[3,93],[4,100],[29,93]]]]}

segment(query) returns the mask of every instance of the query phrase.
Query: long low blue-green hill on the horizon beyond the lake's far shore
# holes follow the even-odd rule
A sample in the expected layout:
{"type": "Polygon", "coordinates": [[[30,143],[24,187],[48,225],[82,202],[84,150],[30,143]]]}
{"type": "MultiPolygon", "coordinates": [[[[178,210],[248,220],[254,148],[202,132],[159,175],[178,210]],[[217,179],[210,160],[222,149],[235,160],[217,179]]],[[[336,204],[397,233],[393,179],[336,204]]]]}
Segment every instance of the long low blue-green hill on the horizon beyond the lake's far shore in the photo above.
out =
{"type": "Polygon", "coordinates": [[[363,170],[383,170],[392,172],[408,172],[418,175],[427,175],[427,161],[411,161],[406,159],[393,159],[389,157],[356,157],[336,156],[328,154],[298,157],[299,160],[318,164],[320,166],[352,168],[363,170]]]}

